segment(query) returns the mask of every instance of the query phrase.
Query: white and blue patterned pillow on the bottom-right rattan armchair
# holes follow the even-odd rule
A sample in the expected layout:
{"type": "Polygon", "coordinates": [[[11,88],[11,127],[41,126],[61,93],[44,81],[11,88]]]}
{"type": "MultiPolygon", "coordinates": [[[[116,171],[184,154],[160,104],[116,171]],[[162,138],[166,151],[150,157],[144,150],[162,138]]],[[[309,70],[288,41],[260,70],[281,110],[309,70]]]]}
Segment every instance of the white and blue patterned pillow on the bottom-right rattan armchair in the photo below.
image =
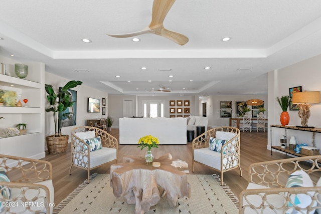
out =
{"type": "MultiPolygon", "coordinates": [[[[309,175],[302,169],[296,170],[295,172],[290,174],[285,185],[285,187],[309,187],[309,186],[313,186],[313,182],[309,177],[309,175]]],[[[312,195],[314,192],[309,192],[309,193],[312,195]]],[[[295,210],[295,208],[291,208],[293,204],[301,208],[304,208],[311,203],[311,197],[307,194],[302,194],[302,193],[291,194],[290,198],[291,198],[291,201],[288,203],[289,209],[286,210],[286,213],[291,213],[291,214],[301,213],[295,210]]],[[[316,203],[313,206],[315,205],[316,203]]],[[[303,213],[306,213],[306,211],[303,211],[303,213]]],[[[314,213],[314,211],[311,213],[314,213]]]]}

